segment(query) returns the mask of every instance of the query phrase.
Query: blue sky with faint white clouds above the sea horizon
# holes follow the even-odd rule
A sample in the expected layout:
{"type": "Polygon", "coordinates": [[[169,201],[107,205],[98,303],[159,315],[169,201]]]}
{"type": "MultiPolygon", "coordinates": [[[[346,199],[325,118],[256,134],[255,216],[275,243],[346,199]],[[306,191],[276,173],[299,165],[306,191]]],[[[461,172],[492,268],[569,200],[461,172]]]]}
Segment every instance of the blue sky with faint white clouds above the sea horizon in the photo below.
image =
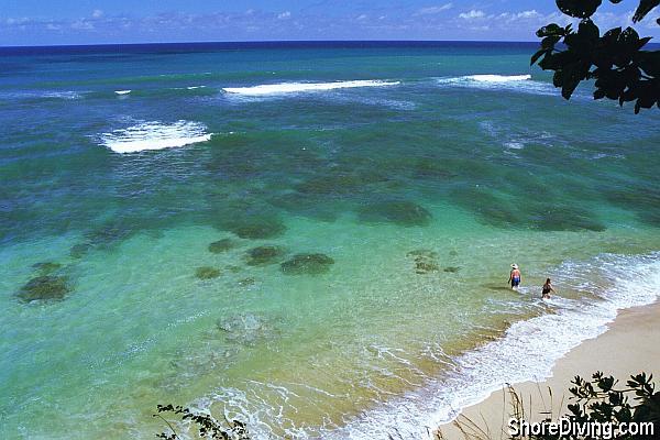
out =
{"type": "MultiPolygon", "coordinates": [[[[602,30],[630,25],[636,0],[603,2],[602,30]]],[[[660,42],[660,8],[636,29],[660,42]]],[[[0,46],[282,40],[536,41],[563,24],[532,0],[0,0],[0,46]]]]}

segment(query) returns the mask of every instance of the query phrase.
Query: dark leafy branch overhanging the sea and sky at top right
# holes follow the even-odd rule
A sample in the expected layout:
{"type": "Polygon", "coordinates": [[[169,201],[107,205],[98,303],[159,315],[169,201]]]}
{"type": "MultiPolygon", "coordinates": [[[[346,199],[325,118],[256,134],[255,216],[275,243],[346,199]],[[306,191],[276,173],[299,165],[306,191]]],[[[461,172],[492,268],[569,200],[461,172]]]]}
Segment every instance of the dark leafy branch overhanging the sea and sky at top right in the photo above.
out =
{"type": "MultiPolygon", "coordinates": [[[[622,0],[609,0],[620,3],[622,0]]],[[[570,99],[580,82],[594,80],[594,99],[635,101],[635,113],[657,106],[660,109],[660,51],[644,50],[651,37],[640,37],[635,29],[614,28],[603,34],[593,16],[601,0],[557,0],[560,11],[580,19],[561,26],[548,24],[537,31],[541,47],[531,64],[554,72],[552,82],[570,99]]],[[[638,23],[660,4],[658,0],[640,0],[632,22],[638,23]]],[[[660,19],[657,20],[660,25],[660,19]]]]}

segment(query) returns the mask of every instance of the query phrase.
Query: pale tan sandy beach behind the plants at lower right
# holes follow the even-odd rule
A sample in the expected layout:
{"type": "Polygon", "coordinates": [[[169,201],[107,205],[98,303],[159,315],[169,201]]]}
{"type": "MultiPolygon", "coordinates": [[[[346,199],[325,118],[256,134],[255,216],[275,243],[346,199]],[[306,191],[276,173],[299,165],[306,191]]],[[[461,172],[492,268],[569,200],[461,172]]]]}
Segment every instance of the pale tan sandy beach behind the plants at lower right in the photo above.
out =
{"type": "MultiPolygon", "coordinates": [[[[591,378],[596,371],[614,375],[624,383],[631,374],[657,373],[660,365],[660,302],[623,310],[608,330],[587,340],[560,359],[552,377],[543,382],[515,384],[525,406],[526,418],[539,421],[552,411],[564,414],[569,403],[570,382],[575,375],[591,378]]],[[[444,439],[507,439],[507,422],[512,399],[503,389],[491,394],[480,404],[465,408],[454,422],[442,425],[444,439]],[[461,429],[457,427],[461,425],[461,429]]]]}

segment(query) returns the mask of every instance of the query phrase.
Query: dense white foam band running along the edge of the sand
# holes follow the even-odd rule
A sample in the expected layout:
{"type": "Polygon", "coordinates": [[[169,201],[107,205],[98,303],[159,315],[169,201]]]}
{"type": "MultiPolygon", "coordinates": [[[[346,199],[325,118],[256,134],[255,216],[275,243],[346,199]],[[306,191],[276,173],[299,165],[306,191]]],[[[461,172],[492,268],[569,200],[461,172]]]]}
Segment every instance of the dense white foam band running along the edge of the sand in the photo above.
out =
{"type": "Polygon", "coordinates": [[[603,333],[617,310],[648,305],[660,297],[660,253],[603,255],[587,263],[566,263],[553,278],[556,285],[597,294],[602,300],[552,298],[547,302],[556,314],[515,323],[504,338],[458,358],[449,377],[430,380],[422,388],[365,411],[322,437],[380,439],[398,431],[402,438],[428,438],[427,428],[432,431],[451,421],[462,408],[505,384],[551,376],[557,360],[603,333]]]}

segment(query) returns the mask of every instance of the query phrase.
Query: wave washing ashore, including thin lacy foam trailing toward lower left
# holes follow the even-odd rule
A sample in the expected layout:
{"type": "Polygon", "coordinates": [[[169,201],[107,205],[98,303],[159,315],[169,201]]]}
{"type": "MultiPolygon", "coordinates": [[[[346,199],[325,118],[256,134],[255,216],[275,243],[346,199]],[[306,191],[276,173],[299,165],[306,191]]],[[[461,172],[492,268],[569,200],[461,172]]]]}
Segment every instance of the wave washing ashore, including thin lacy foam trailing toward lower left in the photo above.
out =
{"type": "MultiPolygon", "coordinates": [[[[428,432],[454,419],[460,411],[485,399],[505,384],[542,381],[551,376],[554,363],[585,340],[607,330],[618,310],[654,302],[660,297],[660,252],[648,255],[603,254],[586,262],[566,262],[551,274],[565,289],[584,294],[583,299],[553,297],[546,301],[551,312],[514,323],[505,334],[473,351],[447,358],[447,373],[426,377],[417,389],[377,404],[338,427],[297,426],[283,418],[289,399],[307,394],[304,384],[249,381],[246,389],[219,387],[195,405],[208,409],[222,402],[231,416],[248,417],[255,438],[271,438],[271,424],[299,439],[372,440],[429,438],[428,432]],[[515,356],[516,362],[512,362],[515,356]],[[283,406],[264,398],[277,396],[283,406]],[[227,407],[226,407],[227,408],[227,407]],[[397,437],[399,438],[399,437],[397,437]]],[[[522,294],[528,294],[527,290],[522,294]]],[[[397,353],[378,349],[391,356],[397,353]]],[[[406,359],[397,358],[410,366],[406,359]]],[[[315,393],[328,394],[323,389],[315,393]]],[[[341,396],[331,397],[342,398],[341,396]]],[[[314,405],[314,400],[308,402],[314,405]]]]}

